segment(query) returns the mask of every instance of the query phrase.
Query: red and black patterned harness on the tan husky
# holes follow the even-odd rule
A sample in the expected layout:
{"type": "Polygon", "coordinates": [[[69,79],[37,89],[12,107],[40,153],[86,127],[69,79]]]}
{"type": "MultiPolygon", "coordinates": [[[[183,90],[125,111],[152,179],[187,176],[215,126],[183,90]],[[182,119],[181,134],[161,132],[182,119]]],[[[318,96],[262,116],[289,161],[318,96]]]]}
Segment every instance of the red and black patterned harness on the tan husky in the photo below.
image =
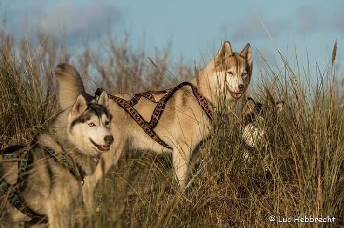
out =
{"type": "MultiPolygon", "coordinates": [[[[152,91],[147,91],[144,93],[136,93],[133,94],[133,97],[130,100],[124,100],[120,97],[109,95],[108,97],[114,101],[117,102],[117,104],[122,107],[127,113],[130,114],[130,116],[138,123],[138,125],[144,130],[144,132],[149,135],[153,140],[158,142],[161,146],[172,149],[170,146],[168,146],[154,131],[154,128],[157,126],[158,120],[164,111],[166,102],[172,97],[172,95],[179,90],[180,88],[184,86],[190,86],[192,88],[193,94],[196,97],[199,105],[202,107],[205,114],[208,116],[210,120],[213,120],[213,112],[211,107],[208,105],[208,101],[203,97],[202,94],[198,92],[198,89],[192,85],[190,82],[184,81],[178,86],[174,88],[170,88],[164,91],[161,91],[162,93],[165,93],[165,95],[160,100],[155,100],[154,96],[151,94],[152,91]],[[151,117],[150,121],[147,122],[143,119],[143,117],[140,115],[140,113],[134,108],[134,106],[138,103],[141,97],[145,97],[148,100],[157,103],[157,106],[155,107],[151,117]]],[[[95,91],[94,99],[97,99],[97,96],[99,97],[101,93],[103,92],[103,89],[98,88],[97,91],[95,91]]]]}

